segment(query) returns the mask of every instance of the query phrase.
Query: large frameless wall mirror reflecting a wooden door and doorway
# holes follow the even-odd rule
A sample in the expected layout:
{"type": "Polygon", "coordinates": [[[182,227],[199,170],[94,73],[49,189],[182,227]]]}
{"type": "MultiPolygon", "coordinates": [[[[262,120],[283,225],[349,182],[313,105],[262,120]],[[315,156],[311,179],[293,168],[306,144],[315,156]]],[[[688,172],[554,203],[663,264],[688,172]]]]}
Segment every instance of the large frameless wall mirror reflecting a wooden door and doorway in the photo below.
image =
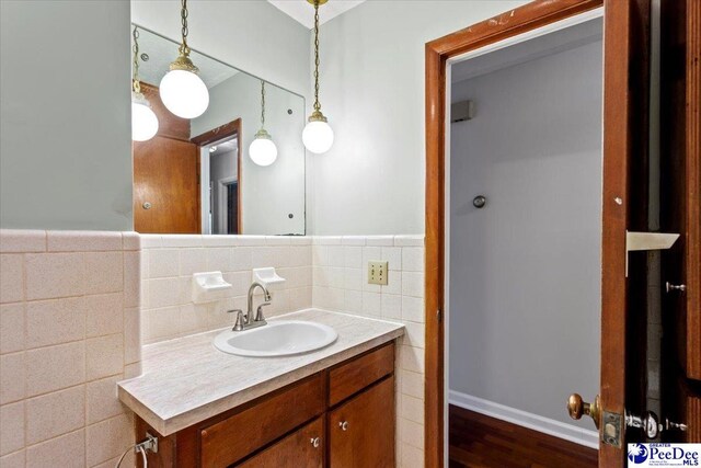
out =
{"type": "Polygon", "coordinates": [[[192,50],[209,105],[198,117],[177,117],[158,87],[179,44],[131,27],[141,93],[159,121],[152,138],[133,144],[135,230],[304,235],[304,99],[192,50]],[[250,153],[263,116],[277,147],[269,165],[250,153]]]}

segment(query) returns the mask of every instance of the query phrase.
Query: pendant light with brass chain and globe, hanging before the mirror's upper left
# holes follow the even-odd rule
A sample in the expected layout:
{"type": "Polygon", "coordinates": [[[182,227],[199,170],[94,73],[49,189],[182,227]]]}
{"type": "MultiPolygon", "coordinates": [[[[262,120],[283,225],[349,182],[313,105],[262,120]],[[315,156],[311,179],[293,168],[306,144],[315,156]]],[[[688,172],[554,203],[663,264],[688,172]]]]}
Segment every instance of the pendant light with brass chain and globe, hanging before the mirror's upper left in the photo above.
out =
{"type": "Polygon", "coordinates": [[[197,76],[199,69],[189,59],[187,46],[187,0],[182,0],[181,22],[183,42],[177,48],[180,55],[170,66],[170,71],[161,80],[160,94],[165,107],[182,118],[195,118],[205,113],[209,105],[209,91],[197,76]]]}

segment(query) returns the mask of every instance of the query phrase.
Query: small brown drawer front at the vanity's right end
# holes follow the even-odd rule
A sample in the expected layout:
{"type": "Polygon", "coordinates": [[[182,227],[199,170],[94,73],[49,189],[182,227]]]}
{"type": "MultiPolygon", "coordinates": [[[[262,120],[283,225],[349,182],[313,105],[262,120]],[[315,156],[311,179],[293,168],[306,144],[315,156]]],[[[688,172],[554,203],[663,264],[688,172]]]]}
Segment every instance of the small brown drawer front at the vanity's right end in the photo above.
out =
{"type": "Polygon", "coordinates": [[[334,406],[394,370],[394,342],[329,372],[329,404],[334,406]]]}

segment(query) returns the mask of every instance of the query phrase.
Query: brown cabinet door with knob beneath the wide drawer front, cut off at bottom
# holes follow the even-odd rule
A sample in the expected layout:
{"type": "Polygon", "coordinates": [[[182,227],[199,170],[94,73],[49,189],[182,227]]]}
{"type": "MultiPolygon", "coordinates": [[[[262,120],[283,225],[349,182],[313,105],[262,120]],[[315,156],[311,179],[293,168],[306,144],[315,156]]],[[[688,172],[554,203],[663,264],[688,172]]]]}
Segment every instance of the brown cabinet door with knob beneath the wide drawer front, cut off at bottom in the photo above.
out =
{"type": "Polygon", "coordinates": [[[237,467],[321,468],[325,446],[324,424],[319,418],[237,467]]]}

